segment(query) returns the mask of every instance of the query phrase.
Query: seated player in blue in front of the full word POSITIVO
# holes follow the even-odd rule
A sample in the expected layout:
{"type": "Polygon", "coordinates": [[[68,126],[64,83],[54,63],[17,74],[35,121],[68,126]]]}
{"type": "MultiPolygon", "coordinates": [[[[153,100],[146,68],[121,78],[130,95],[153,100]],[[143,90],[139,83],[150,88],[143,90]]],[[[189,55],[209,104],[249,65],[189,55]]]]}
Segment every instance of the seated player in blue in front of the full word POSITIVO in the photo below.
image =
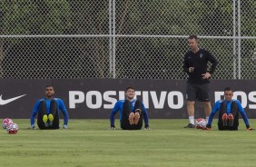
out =
{"type": "Polygon", "coordinates": [[[133,87],[125,89],[125,100],[117,101],[114,104],[113,110],[110,114],[111,129],[115,129],[114,115],[120,112],[120,124],[123,130],[140,130],[143,127],[143,120],[145,129],[149,130],[149,117],[143,102],[133,99],[135,90],[133,87]]]}

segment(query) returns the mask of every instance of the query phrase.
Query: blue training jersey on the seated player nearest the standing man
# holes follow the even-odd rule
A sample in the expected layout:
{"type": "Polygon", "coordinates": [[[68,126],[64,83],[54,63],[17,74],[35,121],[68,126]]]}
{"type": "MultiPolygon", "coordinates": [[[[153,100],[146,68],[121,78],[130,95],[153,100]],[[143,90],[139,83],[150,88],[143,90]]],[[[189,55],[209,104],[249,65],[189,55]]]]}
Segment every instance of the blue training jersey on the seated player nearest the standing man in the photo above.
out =
{"type": "Polygon", "coordinates": [[[209,120],[208,120],[208,125],[211,125],[212,124],[212,119],[213,119],[213,116],[215,113],[217,113],[219,110],[220,110],[220,107],[221,107],[221,103],[225,101],[227,103],[227,114],[231,113],[231,102],[236,102],[237,103],[237,106],[238,106],[238,110],[239,112],[241,113],[241,116],[242,116],[242,119],[243,119],[243,122],[245,123],[245,125],[249,125],[249,121],[248,121],[248,118],[247,118],[247,115],[246,113],[244,112],[242,106],[241,106],[241,103],[240,101],[238,100],[235,100],[235,99],[231,99],[231,101],[226,101],[226,100],[220,100],[220,101],[217,101],[212,109],[212,113],[210,114],[209,116],[209,120]]]}

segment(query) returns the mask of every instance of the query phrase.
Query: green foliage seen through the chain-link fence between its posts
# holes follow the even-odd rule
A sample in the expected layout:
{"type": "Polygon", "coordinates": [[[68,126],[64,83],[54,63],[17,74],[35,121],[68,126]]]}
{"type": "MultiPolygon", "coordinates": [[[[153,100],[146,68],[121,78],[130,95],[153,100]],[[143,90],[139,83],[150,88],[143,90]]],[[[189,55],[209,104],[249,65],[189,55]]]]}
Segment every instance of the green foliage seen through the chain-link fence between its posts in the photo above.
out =
{"type": "MultiPolygon", "coordinates": [[[[232,3],[233,1],[230,0],[115,1],[115,34],[232,36],[232,3]]],[[[254,1],[241,1],[242,36],[256,35],[255,7],[254,1]]],[[[2,0],[0,1],[0,34],[109,34],[109,10],[109,1],[101,0],[2,0]]],[[[57,58],[58,64],[54,66],[56,69],[64,69],[70,64],[67,73],[74,74],[74,78],[75,74],[84,78],[112,77],[109,69],[111,66],[109,39],[105,37],[102,38],[103,40],[98,39],[40,38],[27,42],[28,40],[17,38],[1,38],[0,60],[5,56],[13,56],[11,54],[19,56],[21,53],[16,51],[17,48],[24,48],[37,57],[63,56],[64,59],[57,58]],[[27,46],[28,44],[31,45],[27,46]],[[60,62],[62,60],[63,62],[60,62]],[[94,70],[87,71],[86,69],[90,67],[86,64],[92,64],[94,70]]],[[[229,39],[202,40],[200,45],[210,50],[218,60],[222,60],[220,61],[222,69],[217,68],[213,79],[232,78],[232,58],[237,59],[233,55],[232,42],[229,39]]],[[[129,73],[137,79],[186,78],[182,72],[182,57],[189,48],[184,38],[116,37],[115,46],[117,78],[125,78],[129,73]],[[144,62],[139,61],[142,59],[144,62]],[[127,62],[130,66],[125,65],[127,62]]],[[[256,48],[255,40],[244,41],[242,48],[242,52],[249,55],[245,58],[250,58],[250,53],[256,48]]],[[[250,69],[249,64],[241,65],[244,69],[250,69]]],[[[14,71],[12,69],[5,71],[8,70],[14,71]]],[[[58,77],[58,74],[51,74],[49,77],[58,77]]],[[[252,72],[246,74],[246,77],[248,78],[244,79],[251,79],[252,72]]]]}

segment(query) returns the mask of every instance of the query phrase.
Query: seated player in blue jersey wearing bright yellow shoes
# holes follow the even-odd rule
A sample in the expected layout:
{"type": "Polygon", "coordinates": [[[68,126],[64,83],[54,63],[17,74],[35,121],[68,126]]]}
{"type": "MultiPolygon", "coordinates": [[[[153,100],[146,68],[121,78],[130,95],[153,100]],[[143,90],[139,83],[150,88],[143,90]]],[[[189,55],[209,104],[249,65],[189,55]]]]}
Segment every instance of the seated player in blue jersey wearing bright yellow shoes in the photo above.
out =
{"type": "Polygon", "coordinates": [[[54,87],[52,85],[45,86],[45,97],[38,100],[31,114],[31,128],[35,129],[34,118],[37,116],[37,125],[39,129],[59,129],[59,112],[64,114],[63,128],[67,129],[68,113],[66,111],[63,100],[54,98],[54,87]]]}

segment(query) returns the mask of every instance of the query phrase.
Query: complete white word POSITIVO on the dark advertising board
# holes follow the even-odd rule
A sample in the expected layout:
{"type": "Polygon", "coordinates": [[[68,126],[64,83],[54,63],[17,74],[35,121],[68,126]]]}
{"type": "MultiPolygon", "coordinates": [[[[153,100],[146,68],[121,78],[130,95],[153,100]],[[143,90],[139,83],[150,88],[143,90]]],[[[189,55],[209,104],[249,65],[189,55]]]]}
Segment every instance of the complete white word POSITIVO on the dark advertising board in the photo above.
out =
{"type": "MultiPolygon", "coordinates": [[[[145,108],[163,109],[164,105],[168,105],[171,109],[181,109],[184,103],[183,94],[179,91],[136,91],[135,99],[141,96],[145,108]]],[[[80,107],[82,103],[90,109],[113,109],[117,100],[124,99],[123,91],[89,91],[87,93],[81,91],[69,91],[69,108],[75,109],[80,107]]]]}

